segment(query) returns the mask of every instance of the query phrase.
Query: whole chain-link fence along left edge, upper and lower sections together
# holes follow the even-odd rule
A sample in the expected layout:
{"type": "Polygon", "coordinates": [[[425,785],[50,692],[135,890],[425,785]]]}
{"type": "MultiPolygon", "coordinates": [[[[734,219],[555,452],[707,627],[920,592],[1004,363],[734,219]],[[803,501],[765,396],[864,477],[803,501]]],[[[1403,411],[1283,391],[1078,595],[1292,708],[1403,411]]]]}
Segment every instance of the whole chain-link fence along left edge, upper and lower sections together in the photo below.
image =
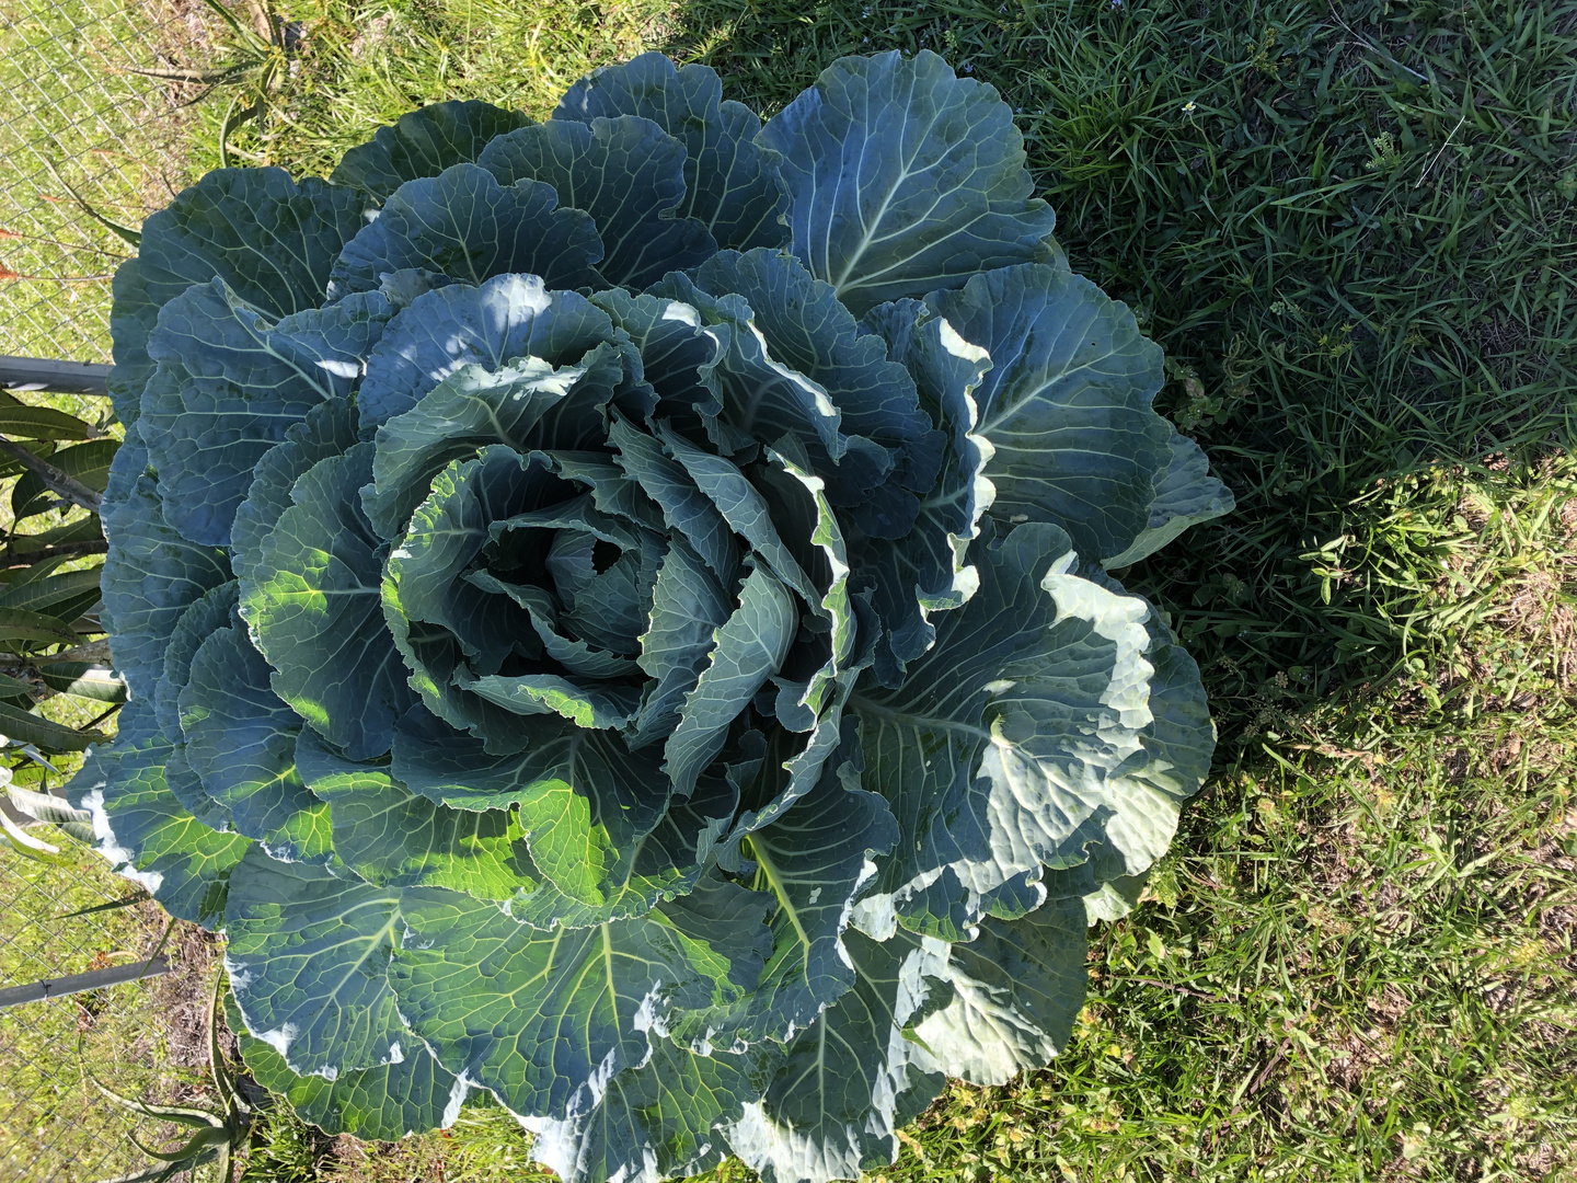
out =
{"type": "MultiPolygon", "coordinates": [[[[200,65],[202,0],[0,0],[0,353],[107,361],[110,274],[136,227],[194,177],[199,87],[140,71],[200,65]]],[[[5,494],[0,483],[0,494],[5,494]]],[[[6,502],[6,497],[0,497],[6,502]]],[[[0,989],[145,961],[166,935],[151,902],[95,853],[0,849],[0,989]],[[79,913],[79,915],[71,915],[79,913]]],[[[213,946],[180,926],[170,973],[0,1009],[0,1183],[90,1183],[142,1169],[169,1129],[109,1101],[200,1096],[213,946]]]]}

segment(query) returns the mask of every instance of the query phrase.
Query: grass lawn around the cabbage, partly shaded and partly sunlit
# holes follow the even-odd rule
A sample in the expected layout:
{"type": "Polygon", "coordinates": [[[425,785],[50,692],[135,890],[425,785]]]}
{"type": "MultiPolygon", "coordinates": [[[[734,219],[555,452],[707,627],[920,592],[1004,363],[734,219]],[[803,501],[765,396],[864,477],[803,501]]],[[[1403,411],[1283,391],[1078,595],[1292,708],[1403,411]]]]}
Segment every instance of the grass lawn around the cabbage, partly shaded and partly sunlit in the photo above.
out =
{"type": "MultiPolygon", "coordinates": [[[[238,139],[292,167],[364,136],[355,103],[531,110],[542,46],[699,57],[763,114],[841,52],[934,47],[1022,107],[1074,268],[1169,350],[1162,405],[1238,511],[1126,579],[1202,655],[1217,771],[1064,1055],[951,1090],[888,1177],[1571,1170],[1571,11],[292,16],[300,106],[238,139]]],[[[486,1112],[388,1148],[281,1114],[254,1172],[522,1159],[486,1112]]]]}

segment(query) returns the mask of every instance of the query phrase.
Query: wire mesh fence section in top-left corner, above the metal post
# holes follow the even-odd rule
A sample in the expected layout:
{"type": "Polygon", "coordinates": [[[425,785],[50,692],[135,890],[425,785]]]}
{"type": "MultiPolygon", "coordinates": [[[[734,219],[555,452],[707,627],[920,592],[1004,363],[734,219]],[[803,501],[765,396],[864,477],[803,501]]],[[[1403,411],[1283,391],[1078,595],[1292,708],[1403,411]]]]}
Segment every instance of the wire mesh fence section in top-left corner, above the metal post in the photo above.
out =
{"type": "Polygon", "coordinates": [[[203,58],[197,9],[0,0],[0,353],[109,360],[110,273],[128,248],[66,185],[137,226],[192,180],[186,87],[137,71],[203,58]]]}

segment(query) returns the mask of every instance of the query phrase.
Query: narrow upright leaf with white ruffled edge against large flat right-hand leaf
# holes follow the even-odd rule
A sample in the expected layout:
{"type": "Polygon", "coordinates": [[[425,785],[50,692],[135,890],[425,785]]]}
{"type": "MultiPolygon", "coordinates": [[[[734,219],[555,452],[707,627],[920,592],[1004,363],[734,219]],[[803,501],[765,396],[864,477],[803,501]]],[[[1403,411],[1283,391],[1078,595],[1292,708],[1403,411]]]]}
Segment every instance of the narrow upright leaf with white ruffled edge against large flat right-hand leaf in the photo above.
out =
{"type": "Polygon", "coordinates": [[[986,350],[960,338],[943,317],[927,315],[916,300],[878,304],[863,328],[878,333],[889,356],[915,375],[946,437],[940,478],[921,498],[915,527],[896,541],[861,539],[853,547],[855,571],[875,580],[874,603],[883,625],[877,677],[897,686],[904,664],[935,640],[930,614],[959,607],[979,584],[967,555],[997,489],[984,475],[995,448],[976,432],[975,391],[992,363],[986,350]]]}

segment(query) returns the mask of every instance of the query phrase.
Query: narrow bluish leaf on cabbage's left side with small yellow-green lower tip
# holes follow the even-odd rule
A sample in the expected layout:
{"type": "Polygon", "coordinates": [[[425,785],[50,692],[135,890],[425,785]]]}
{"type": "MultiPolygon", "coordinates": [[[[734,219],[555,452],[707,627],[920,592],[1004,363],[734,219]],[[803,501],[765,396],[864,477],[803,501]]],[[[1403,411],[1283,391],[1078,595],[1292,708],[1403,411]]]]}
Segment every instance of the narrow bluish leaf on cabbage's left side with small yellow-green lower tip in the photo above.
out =
{"type": "Polygon", "coordinates": [[[333,853],[328,806],[296,773],[301,718],[270,689],[270,672],[241,625],[197,647],[180,694],[186,759],[237,831],[282,858],[323,861],[333,853]]]}

